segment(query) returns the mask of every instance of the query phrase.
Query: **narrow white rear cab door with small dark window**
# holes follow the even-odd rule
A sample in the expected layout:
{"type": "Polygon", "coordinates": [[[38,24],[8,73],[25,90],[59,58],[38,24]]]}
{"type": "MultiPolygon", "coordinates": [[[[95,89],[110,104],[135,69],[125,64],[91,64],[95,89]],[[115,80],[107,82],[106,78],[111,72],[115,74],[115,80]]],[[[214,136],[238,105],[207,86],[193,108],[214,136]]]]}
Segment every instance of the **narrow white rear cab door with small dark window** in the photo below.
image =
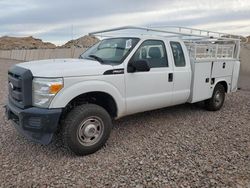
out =
{"type": "Polygon", "coordinates": [[[173,105],[187,102],[190,96],[192,72],[187,48],[182,41],[170,41],[174,62],[173,105]]]}

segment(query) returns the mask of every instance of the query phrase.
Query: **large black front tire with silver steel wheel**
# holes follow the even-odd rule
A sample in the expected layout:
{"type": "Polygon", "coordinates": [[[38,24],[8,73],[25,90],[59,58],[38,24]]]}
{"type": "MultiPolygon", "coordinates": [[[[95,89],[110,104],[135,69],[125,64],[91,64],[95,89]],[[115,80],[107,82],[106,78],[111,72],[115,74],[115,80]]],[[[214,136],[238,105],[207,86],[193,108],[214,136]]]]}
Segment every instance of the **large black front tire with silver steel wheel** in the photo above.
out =
{"type": "Polygon", "coordinates": [[[62,136],[66,147],[82,156],[102,148],[111,129],[111,117],[104,108],[84,104],[69,112],[62,123],[62,136]]]}

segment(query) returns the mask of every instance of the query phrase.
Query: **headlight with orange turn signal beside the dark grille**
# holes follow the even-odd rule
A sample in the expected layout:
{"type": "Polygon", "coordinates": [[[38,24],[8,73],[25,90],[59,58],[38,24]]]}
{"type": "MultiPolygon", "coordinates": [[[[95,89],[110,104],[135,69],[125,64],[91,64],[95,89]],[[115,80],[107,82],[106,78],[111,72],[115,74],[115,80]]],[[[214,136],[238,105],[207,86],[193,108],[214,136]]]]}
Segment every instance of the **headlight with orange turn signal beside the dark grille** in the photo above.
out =
{"type": "Polygon", "coordinates": [[[62,78],[34,78],[33,106],[48,108],[54,96],[63,88],[62,78]]]}

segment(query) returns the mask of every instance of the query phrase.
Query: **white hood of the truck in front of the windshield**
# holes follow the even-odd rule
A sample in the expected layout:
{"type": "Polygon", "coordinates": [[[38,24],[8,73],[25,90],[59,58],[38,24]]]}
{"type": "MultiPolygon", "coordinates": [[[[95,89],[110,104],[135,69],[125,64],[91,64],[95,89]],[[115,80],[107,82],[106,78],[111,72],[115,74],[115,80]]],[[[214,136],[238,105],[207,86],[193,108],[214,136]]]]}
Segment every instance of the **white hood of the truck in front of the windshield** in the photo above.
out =
{"type": "Polygon", "coordinates": [[[87,59],[48,59],[20,63],[17,66],[29,69],[35,77],[71,77],[102,75],[113,69],[95,60],[87,59]]]}

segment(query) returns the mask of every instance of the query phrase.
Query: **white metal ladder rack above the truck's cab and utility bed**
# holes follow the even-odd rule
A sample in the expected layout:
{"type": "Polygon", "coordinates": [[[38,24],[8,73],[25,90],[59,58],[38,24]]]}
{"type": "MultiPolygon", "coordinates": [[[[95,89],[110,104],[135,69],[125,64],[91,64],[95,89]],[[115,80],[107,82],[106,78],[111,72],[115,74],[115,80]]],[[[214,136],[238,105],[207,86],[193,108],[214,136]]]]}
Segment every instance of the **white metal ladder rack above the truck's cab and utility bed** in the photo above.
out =
{"type": "Polygon", "coordinates": [[[240,44],[248,41],[246,37],[240,35],[179,26],[124,26],[92,32],[89,33],[89,35],[100,37],[150,35],[166,38],[181,38],[185,42],[192,58],[197,60],[239,59],[240,44]],[[128,31],[128,33],[124,33],[124,31],[128,31]]]}

